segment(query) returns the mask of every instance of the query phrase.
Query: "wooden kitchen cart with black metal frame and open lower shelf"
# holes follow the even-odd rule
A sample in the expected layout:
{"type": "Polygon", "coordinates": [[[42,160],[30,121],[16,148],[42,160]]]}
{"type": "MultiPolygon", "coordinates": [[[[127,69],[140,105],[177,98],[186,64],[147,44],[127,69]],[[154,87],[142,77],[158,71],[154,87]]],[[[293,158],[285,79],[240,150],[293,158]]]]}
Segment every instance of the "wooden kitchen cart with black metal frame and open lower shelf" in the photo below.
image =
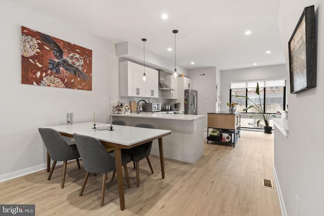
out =
{"type": "Polygon", "coordinates": [[[232,143],[235,148],[235,143],[240,137],[240,113],[208,112],[207,118],[207,144],[209,141],[232,143]],[[211,136],[210,132],[216,128],[221,129],[222,134],[228,134],[231,137],[230,141],[226,142],[222,139],[222,134],[211,136]]]}

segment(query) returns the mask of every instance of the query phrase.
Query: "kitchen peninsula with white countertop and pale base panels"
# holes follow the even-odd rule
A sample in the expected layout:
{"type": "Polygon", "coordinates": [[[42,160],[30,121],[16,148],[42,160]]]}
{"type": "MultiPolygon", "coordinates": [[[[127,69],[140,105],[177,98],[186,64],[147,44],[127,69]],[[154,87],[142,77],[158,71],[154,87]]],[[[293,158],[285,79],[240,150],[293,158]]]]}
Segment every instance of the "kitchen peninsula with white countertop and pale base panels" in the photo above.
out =
{"type": "MultiPolygon", "coordinates": [[[[113,120],[124,120],[127,126],[150,123],[156,129],[172,131],[163,140],[164,156],[195,163],[204,154],[204,115],[168,113],[112,114],[113,120]]],[[[157,141],[153,141],[151,154],[159,155],[157,141]],[[155,142],[155,144],[154,144],[155,142]]]]}

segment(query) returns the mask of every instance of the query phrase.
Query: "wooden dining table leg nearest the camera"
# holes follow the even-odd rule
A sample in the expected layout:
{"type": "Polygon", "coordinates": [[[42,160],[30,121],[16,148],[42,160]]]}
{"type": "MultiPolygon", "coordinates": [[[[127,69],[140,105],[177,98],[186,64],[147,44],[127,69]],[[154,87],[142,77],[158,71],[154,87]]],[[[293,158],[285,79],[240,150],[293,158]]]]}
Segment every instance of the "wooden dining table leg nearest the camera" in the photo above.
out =
{"type": "Polygon", "coordinates": [[[125,209],[125,197],[124,197],[124,184],[123,184],[123,169],[121,163],[121,151],[119,147],[114,147],[115,162],[116,162],[116,174],[118,183],[119,203],[120,210],[125,209]]]}

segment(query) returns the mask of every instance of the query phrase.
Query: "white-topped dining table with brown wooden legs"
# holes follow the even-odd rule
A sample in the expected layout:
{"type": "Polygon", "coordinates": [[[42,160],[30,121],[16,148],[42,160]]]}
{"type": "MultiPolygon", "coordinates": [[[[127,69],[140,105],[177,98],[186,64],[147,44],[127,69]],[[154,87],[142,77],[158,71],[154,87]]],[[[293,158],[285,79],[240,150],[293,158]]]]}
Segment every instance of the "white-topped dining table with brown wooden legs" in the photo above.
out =
{"type": "MultiPolygon", "coordinates": [[[[97,123],[102,124],[102,123],[97,123]]],[[[94,129],[93,122],[75,123],[70,125],[45,126],[45,128],[53,128],[62,136],[73,137],[73,134],[86,135],[98,139],[102,144],[113,147],[116,162],[116,175],[119,192],[120,209],[125,209],[123,170],[121,165],[121,149],[129,149],[135,146],[158,139],[158,147],[160,154],[161,174],[165,178],[163,141],[164,136],[170,135],[171,131],[164,129],[151,129],[134,126],[112,125],[113,131],[108,129],[94,129]]],[[[47,169],[49,171],[51,158],[47,158],[47,169]]]]}

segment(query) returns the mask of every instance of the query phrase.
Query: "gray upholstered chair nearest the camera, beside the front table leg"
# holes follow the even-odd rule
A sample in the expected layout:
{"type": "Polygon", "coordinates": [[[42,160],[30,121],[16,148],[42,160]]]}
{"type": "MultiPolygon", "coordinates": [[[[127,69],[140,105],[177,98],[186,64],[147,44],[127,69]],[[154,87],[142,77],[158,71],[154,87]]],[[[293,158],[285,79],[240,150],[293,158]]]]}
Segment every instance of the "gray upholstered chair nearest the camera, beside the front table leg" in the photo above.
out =
{"type": "MultiPolygon", "coordinates": [[[[105,148],[101,145],[101,143],[93,137],[73,134],[73,138],[75,139],[76,146],[79,150],[83,166],[86,169],[86,176],[82,188],[80,190],[79,196],[82,196],[83,194],[90,173],[104,174],[102,180],[100,202],[100,206],[103,206],[107,172],[116,170],[114,153],[107,152],[105,148]]],[[[121,154],[121,162],[125,169],[127,186],[128,188],[130,188],[131,184],[128,176],[127,163],[131,162],[131,157],[127,154],[121,154]]]]}

